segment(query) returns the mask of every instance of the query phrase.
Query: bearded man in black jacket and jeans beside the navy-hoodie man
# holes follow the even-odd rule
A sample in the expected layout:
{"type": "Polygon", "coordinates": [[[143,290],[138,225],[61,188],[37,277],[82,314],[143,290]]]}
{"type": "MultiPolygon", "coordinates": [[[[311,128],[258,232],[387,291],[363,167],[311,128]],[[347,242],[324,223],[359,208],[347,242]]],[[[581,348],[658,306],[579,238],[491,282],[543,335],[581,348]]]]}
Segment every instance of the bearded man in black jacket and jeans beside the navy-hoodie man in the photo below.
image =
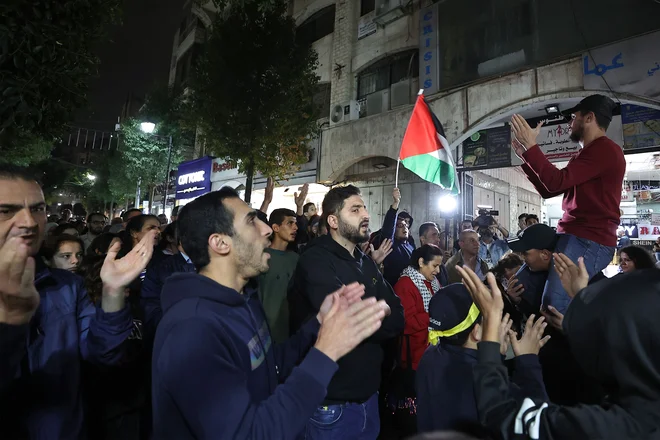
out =
{"type": "Polygon", "coordinates": [[[390,310],[378,332],[338,362],[326,399],[307,424],[307,438],[375,440],[381,344],[403,332],[403,307],[374,261],[357,246],[369,238],[369,213],[360,190],[352,185],[331,189],[323,199],[323,221],[329,235],[309,244],[290,286],[292,331],[318,313],[329,293],[355,281],[364,284],[364,298],[385,300],[390,310]]]}

